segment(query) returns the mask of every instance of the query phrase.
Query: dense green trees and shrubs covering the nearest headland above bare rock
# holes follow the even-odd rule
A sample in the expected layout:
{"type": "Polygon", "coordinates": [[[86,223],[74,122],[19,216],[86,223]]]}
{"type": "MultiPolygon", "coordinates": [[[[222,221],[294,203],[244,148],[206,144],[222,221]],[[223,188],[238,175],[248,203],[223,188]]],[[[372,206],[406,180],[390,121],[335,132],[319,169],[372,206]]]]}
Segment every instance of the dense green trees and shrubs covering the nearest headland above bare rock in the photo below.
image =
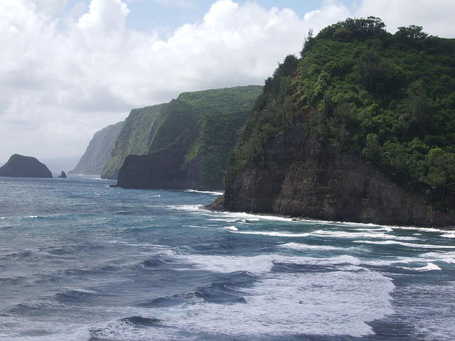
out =
{"type": "Polygon", "coordinates": [[[299,114],[321,144],[359,153],[444,210],[455,193],[455,40],[422,27],[387,33],[379,18],[347,19],[306,38],[265,82],[240,134],[228,180],[299,114]]]}

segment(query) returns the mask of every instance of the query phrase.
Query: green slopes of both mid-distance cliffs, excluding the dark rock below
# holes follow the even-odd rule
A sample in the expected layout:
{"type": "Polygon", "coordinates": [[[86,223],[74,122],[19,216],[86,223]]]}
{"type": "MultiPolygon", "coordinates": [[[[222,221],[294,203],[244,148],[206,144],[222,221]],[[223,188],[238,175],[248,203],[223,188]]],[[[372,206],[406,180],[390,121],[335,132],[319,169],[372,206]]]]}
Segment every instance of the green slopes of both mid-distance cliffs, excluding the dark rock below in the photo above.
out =
{"type": "Polygon", "coordinates": [[[117,176],[128,155],[153,154],[185,141],[182,168],[196,161],[198,181],[222,187],[237,130],[261,92],[258,85],[184,92],[169,103],[134,109],[103,175],[117,176]]]}

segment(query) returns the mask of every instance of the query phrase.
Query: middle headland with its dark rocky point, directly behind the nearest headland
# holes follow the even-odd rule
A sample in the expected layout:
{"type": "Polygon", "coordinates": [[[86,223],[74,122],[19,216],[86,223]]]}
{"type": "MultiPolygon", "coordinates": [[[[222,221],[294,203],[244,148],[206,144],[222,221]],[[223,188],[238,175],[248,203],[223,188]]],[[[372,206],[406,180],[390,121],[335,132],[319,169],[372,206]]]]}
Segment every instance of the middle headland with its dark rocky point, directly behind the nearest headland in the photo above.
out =
{"type": "Polygon", "coordinates": [[[147,138],[142,138],[149,142],[148,151],[144,153],[143,148],[146,155],[125,158],[117,185],[223,188],[237,131],[261,92],[262,87],[256,85],[185,92],[149,114],[154,124],[149,125],[147,138]]]}

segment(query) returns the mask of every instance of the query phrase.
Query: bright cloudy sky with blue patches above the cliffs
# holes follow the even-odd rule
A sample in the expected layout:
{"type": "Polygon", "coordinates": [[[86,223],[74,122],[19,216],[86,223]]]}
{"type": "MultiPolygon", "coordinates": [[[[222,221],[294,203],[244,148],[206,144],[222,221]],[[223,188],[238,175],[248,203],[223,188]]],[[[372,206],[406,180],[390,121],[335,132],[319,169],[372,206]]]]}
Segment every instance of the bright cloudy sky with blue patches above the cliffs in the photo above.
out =
{"type": "Polygon", "coordinates": [[[379,16],[455,38],[453,0],[0,0],[0,161],[82,155],[179,93],[262,85],[309,29],[379,16]]]}

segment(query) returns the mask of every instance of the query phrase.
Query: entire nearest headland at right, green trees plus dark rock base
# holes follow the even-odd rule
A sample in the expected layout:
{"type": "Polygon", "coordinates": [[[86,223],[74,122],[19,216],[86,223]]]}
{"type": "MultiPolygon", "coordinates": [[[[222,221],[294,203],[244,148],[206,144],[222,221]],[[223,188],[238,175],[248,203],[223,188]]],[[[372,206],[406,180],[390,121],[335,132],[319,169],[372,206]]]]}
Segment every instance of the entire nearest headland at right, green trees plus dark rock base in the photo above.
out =
{"type": "Polygon", "coordinates": [[[212,207],[454,228],[454,52],[374,17],[309,36],[266,80],[212,207]]]}

